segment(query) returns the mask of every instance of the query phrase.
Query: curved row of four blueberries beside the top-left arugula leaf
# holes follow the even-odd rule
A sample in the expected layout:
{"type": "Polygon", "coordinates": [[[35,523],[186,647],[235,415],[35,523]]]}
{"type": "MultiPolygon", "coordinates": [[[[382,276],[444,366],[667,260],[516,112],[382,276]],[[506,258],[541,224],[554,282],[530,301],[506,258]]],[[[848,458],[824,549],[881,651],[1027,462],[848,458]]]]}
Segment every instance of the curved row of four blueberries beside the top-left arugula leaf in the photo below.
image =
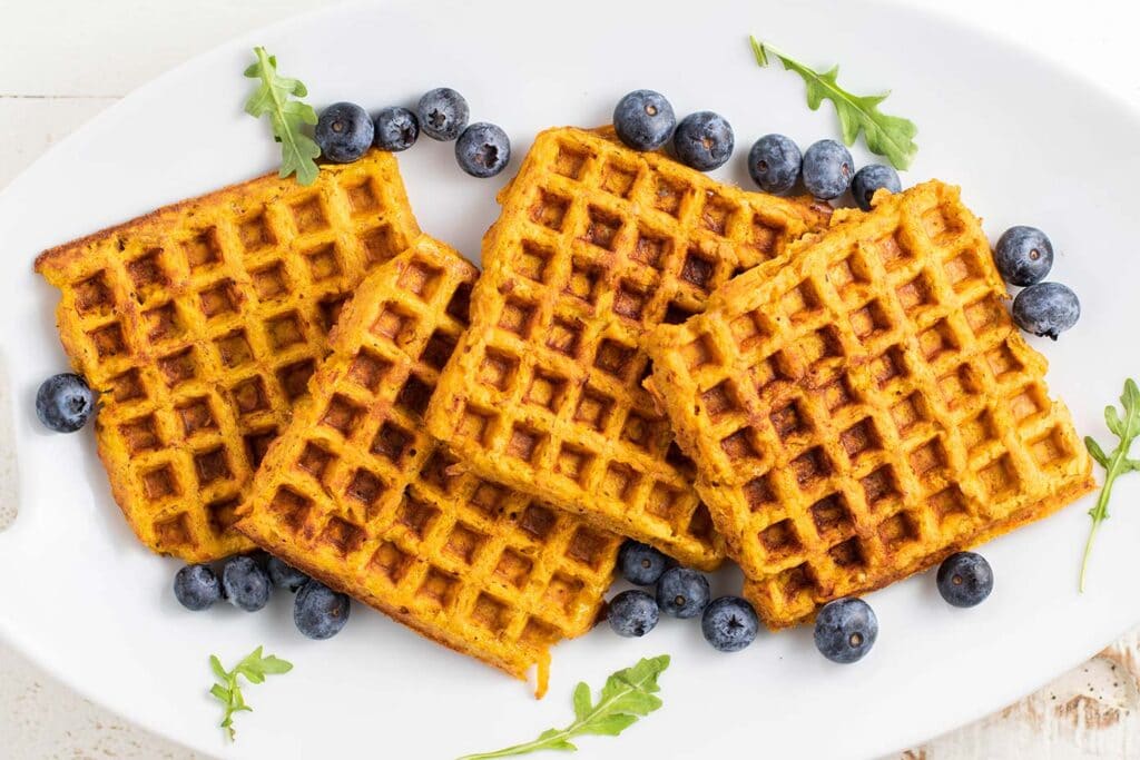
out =
{"type": "Polygon", "coordinates": [[[472,177],[495,177],[511,162],[511,140],[495,124],[467,124],[462,95],[448,87],[425,92],[415,111],[382,108],[375,119],[355,103],[334,103],[317,120],[316,139],[328,161],[350,163],[375,145],[397,153],[415,145],[422,131],[433,140],[455,140],[455,160],[472,177]]]}

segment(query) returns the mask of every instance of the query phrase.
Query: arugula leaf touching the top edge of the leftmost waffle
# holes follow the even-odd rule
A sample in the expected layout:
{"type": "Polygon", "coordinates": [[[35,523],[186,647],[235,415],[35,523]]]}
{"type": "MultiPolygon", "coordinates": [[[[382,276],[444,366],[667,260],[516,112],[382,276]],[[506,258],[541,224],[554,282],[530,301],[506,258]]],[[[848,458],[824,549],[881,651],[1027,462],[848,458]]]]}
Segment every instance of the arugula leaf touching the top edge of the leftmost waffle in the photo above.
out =
{"type": "Polygon", "coordinates": [[[269,115],[274,139],[282,144],[279,175],[284,178],[295,172],[301,185],[312,185],[320,171],[314,161],[320,155],[320,148],[303,128],[317,123],[317,112],[306,103],[290,99],[303,98],[309,90],[300,80],[279,75],[277,57],[270,56],[264,48],[254,48],[253,52],[258,63],[250,65],[245,75],[261,80],[261,84],[245,101],[245,113],[259,119],[269,115]]]}

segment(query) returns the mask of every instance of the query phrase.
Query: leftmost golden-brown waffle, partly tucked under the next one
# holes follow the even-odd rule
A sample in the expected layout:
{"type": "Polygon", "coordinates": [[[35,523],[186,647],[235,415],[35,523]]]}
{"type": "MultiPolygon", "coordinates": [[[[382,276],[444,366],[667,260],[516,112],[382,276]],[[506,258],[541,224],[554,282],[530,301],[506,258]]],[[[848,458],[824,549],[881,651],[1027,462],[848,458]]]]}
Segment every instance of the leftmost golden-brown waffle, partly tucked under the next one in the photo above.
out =
{"type": "Polygon", "coordinates": [[[192,562],[230,530],[365,273],[418,234],[396,160],[263,177],[40,255],[59,336],[100,392],[99,456],[139,539],[192,562]]]}

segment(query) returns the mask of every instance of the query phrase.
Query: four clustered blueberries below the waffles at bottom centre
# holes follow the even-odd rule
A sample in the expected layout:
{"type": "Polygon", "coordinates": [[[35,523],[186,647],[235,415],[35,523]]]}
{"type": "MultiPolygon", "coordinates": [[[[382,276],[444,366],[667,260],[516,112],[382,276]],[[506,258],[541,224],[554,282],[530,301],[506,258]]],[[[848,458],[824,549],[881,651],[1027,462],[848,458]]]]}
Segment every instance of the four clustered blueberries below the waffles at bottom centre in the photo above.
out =
{"type": "Polygon", "coordinates": [[[705,640],[720,652],[739,652],[756,638],[760,621],[752,605],[736,596],[710,602],[705,575],[676,566],[653,547],[626,541],[618,565],[630,583],[657,586],[653,594],[630,589],[610,600],[610,627],[618,636],[644,636],[657,627],[663,612],[683,620],[700,615],[705,640]]]}

